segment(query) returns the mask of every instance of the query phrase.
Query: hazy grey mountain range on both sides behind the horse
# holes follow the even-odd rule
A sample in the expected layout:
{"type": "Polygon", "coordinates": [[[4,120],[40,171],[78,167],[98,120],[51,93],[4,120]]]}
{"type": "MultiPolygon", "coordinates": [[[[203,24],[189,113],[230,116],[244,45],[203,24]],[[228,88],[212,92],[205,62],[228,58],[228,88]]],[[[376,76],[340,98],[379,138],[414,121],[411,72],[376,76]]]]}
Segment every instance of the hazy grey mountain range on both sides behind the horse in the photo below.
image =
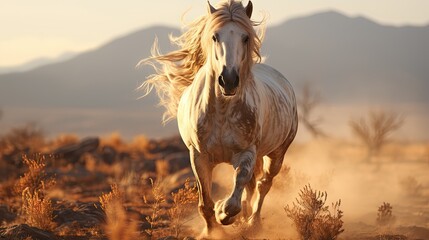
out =
{"type": "MultiPolygon", "coordinates": [[[[135,65],[150,55],[155,36],[163,52],[173,49],[170,33],[179,30],[154,26],[64,62],[0,75],[0,131],[37,121],[50,134],[177,133],[174,122],[161,126],[156,96],[137,100],[142,93],[135,91],[152,73],[135,65]]],[[[268,28],[262,52],[295,87],[312,83],[327,104],[429,104],[429,26],[323,12],[268,28]]]]}

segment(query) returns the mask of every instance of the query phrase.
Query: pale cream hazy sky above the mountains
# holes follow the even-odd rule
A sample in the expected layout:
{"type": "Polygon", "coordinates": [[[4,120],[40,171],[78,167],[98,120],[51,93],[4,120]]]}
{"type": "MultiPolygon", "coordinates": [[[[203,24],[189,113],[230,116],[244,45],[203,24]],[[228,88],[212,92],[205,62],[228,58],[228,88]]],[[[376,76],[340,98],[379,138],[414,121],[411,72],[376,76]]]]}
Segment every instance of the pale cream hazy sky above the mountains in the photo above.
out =
{"type": "MultiPolygon", "coordinates": [[[[211,0],[213,4],[218,0],[211,0]]],[[[326,10],[387,25],[429,24],[429,0],[253,0],[268,25],[326,10]]],[[[247,0],[244,0],[247,4],[247,0]]],[[[0,66],[95,48],[154,24],[180,26],[206,13],[204,0],[0,0],[0,66]]]]}

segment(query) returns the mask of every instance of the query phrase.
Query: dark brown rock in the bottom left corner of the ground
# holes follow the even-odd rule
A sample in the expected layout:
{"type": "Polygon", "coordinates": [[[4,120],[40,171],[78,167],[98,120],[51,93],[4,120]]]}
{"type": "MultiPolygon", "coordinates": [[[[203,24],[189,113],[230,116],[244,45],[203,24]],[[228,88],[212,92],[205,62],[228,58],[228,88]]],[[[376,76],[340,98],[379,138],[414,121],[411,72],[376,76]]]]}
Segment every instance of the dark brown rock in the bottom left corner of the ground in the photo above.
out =
{"type": "Polygon", "coordinates": [[[53,233],[39,228],[30,227],[27,224],[14,225],[6,228],[0,228],[1,239],[26,239],[33,240],[57,240],[53,233]]]}

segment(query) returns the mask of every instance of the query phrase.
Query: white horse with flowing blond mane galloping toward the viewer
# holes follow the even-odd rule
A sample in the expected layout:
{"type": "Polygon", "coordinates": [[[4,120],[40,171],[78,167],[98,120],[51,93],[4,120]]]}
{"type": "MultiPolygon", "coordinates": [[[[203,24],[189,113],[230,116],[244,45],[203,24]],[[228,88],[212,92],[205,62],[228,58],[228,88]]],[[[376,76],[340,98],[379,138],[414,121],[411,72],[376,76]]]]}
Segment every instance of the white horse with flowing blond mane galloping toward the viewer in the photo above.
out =
{"type": "Polygon", "coordinates": [[[161,55],[155,44],[153,56],[143,60],[162,65],[142,87],[156,88],[167,109],[164,120],[177,116],[199,190],[204,236],[217,223],[233,223],[242,209],[251,226],[260,226],[264,198],[298,127],[290,83],[258,63],[261,40],[250,20],[252,8],[250,1],[246,7],[232,0],[217,8],[209,3],[207,16],[173,39],[179,50],[161,55]],[[212,171],[219,163],[235,169],[234,186],[215,204],[212,171]]]}

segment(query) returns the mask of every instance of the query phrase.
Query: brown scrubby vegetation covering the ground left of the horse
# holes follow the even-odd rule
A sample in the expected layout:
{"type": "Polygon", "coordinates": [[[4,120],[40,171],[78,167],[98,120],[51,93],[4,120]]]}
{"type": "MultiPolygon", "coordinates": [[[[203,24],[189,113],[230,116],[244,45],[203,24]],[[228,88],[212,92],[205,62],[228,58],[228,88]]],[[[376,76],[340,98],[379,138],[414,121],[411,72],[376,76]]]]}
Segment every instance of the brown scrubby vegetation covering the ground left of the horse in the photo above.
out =
{"type": "Polygon", "coordinates": [[[190,233],[184,231],[188,216],[183,214],[196,212],[187,207],[195,188],[191,180],[180,180],[191,170],[182,171],[189,159],[180,157],[186,147],[178,138],[138,136],[127,143],[119,134],[101,141],[62,135],[45,141],[41,131],[25,126],[2,136],[0,143],[2,237],[147,239],[190,233]],[[22,155],[33,152],[41,153],[22,155]],[[180,175],[163,188],[156,166],[167,161],[176,166],[165,166],[162,175],[180,175]]]}

